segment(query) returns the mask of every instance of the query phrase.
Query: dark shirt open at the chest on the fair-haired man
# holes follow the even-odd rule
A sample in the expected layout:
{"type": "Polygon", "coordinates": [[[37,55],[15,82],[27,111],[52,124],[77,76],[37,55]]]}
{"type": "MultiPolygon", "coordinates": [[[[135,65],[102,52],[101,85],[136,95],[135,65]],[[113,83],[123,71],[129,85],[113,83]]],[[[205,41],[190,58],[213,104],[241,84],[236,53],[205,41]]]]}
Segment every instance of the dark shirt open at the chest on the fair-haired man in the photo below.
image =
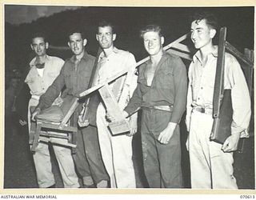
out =
{"type": "Polygon", "coordinates": [[[173,106],[170,122],[179,123],[186,109],[187,75],[182,59],[166,52],[158,62],[151,86],[147,86],[145,70],[151,62],[139,67],[138,86],[126,112],[133,113],[140,106],[173,106]]]}

